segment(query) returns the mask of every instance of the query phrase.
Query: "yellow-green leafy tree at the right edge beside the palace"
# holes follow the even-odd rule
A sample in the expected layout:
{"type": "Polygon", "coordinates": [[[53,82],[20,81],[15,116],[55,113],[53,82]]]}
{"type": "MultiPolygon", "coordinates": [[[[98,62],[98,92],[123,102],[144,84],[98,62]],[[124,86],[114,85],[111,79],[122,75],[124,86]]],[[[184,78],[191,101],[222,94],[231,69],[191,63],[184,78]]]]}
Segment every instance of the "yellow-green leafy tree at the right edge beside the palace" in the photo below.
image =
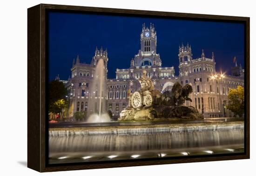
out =
{"type": "Polygon", "coordinates": [[[238,85],[236,89],[230,89],[229,94],[229,104],[227,108],[234,112],[235,115],[242,116],[244,113],[244,89],[242,86],[238,85]]]}

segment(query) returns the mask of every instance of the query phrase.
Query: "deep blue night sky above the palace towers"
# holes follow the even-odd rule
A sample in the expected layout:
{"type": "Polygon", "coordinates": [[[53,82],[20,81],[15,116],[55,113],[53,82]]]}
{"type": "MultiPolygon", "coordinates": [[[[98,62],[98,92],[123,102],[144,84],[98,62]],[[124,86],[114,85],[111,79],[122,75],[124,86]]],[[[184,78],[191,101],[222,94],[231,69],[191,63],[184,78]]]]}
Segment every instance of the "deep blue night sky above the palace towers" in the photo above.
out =
{"type": "Polygon", "coordinates": [[[115,78],[116,68],[129,68],[130,59],[140,49],[141,26],[154,23],[157,53],[163,66],[175,66],[178,75],[178,47],[191,44],[193,59],[215,53],[216,70],[230,72],[233,57],[244,66],[244,26],[240,23],[157,19],[79,13],[50,12],[49,80],[71,75],[73,59],[90,63],[95,47],[108,48],[108,78],[115,78]]]}

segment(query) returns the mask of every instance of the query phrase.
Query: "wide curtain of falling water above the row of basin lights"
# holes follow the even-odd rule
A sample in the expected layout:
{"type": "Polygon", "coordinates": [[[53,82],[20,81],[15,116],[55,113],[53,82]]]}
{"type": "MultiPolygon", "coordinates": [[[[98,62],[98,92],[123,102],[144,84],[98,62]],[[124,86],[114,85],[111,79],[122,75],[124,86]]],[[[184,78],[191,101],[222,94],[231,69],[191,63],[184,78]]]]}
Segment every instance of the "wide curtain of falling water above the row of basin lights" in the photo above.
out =
{"type": "Polygon", "coordinates": [[[243,124],[49,131],[50,155],[59,152],[142,152],[243,146],[243,124]]]}

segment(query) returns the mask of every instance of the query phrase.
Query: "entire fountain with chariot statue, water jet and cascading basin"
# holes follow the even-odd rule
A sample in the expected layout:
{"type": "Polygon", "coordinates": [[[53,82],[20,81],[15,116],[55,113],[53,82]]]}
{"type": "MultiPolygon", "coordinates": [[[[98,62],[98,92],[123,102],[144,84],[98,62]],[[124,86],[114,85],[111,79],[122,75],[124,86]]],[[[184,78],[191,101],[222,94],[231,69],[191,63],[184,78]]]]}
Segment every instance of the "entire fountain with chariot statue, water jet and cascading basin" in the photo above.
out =
{"type": "MultiPolygon", "coordinates": [[[[105,85],[103,60],[99,60],[94,74],[93,90],[105,85]],[[99,87],[99,86],[100,87],[99,87]]],[[[141,88],[129,97],[129,107],[121,111],[119,120],[155,120],[160,118],[200,119],[194,107],[183,106],[189,100],[192,87],[179,83],[171,92],[155,90],[146,71],[139,79],[141,88]]],[[[91,97],[90,97],[91,98],[91,97]]],[[[104,123],[109,116],[100,104],[104,92],[92,96],[94,113],[87,123],[104,123]],[[100,107],[100,111],[97,111],[100,107]]],[[[104,103],[103,103],[104,105],[104,103]]],[[[244,151],[244,122],[168,123],[146,125],[145,122],[117,122],[113,125],[86,128],[50,128],[49,163],[98,162],[173,156],[201,156],[242,153],[244,151]],[[144,124],[143,124],[144,123],[144,124]],[[125,125],[120,125],[125,124],[125,125]],[[142,124],[142,125],[141,125],[142,124]]],[[[150,122],[151,123],[151,122],[150,122]]],[[[161,122],[162,123],[162,122],[161,122]]]]}

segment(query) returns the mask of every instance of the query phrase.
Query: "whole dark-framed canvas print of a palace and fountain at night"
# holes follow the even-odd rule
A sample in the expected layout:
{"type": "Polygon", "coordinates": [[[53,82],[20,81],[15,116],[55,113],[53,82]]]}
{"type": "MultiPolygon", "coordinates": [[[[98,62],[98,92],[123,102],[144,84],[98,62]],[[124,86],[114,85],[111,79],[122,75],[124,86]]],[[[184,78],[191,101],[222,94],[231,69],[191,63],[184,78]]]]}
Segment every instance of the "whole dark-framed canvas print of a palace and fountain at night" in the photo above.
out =
{"type": "Polygon", "coordinates": [[[28,9],[28,167],[249,158],[249,18],[28,9]]]}

